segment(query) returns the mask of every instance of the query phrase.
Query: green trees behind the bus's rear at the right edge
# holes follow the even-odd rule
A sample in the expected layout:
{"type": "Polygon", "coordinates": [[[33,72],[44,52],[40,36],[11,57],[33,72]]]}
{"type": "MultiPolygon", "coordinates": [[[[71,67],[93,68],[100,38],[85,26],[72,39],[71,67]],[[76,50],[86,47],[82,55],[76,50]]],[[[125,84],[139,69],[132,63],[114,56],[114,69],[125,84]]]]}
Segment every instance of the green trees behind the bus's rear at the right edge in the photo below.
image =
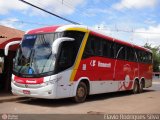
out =
{"type": "Polygon", "coordinates": [[[160,72],[160,46],[153,47],[151,44],[146,43],[144,47],[150,49],[153,53],[153,71],[160,72]]]}

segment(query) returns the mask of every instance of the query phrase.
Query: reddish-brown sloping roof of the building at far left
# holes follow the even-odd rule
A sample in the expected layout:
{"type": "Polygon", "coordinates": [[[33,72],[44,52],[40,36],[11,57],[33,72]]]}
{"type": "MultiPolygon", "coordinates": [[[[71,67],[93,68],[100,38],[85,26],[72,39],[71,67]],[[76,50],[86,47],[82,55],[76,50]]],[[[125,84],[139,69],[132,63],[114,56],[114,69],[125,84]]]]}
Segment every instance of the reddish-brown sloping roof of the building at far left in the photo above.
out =
{"type": "Polygon", "coordinates": [[[21,40],[24,31],[0,25],[0,49],[4,49],[8,42],[21,40]]]}

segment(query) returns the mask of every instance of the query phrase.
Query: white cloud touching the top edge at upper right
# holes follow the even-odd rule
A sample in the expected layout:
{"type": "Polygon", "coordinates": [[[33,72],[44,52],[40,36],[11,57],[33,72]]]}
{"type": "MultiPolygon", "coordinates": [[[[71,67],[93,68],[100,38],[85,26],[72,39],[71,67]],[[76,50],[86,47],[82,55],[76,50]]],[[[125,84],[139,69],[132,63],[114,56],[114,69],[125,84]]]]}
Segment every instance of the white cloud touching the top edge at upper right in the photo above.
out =
{"type": "Polygon", "coordinates": [[[154,7],[157,4],[157,0],[121,0],[121,2],[113,5],[113,8],[117,10],[122,9],[141,9],[146,7],[154,7]]]}

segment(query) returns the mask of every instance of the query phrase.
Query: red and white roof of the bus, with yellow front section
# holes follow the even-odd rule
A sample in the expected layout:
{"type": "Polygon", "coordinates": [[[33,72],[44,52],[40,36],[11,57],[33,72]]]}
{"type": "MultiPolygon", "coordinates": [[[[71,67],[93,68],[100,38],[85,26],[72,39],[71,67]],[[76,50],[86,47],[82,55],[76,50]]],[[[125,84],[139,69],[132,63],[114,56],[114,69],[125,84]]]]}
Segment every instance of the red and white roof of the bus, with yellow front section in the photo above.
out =
{"type": "Polygon", "coordinates": [[[52,32],[63,32],[66,30],[77,30],[77,31],[83,31],[83,32],[87,32],[90,31],[91,34],[102,37],[102,38],[106,38],[108,40],[111,41],[115,41],[117,43],[126,45],[126,46],[130,46],[130,47],[134,47],[140,50],[144,50],[144,51],[148,51],[151,52],[151,50],[129,43],[129,42],[125,42],[122,40],[118,40],[116,38],[112,38],[108,35],[105,35],[104,33],[97,31],[97,30],[93,30],[88,28],[87,26],[83,26],[83,25],[56,25],[56,26],[48,26],[48,27],[43,27],[43,28],[38,28],[38,29],[34,29],[34,30],[30,30],[28,32],[26,32],[26,34],[40,34],[40,33],[52,33],[52,32]]]}

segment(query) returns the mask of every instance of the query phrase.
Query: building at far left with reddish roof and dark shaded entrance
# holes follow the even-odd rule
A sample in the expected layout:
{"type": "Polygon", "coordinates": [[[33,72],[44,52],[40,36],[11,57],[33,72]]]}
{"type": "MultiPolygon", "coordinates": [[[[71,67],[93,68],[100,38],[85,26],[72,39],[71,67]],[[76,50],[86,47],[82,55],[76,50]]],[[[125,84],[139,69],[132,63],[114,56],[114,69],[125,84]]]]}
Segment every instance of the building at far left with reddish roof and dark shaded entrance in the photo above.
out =
{"type": "Polygon", "coordinates": [[[21,40],[23,35],[24,31],[0,25],[0,92],[10,91],[13,58],[18,48],[18,45],[13,45],[8,56],[5,56],[5,45],[11,41],[21,40]]]}

